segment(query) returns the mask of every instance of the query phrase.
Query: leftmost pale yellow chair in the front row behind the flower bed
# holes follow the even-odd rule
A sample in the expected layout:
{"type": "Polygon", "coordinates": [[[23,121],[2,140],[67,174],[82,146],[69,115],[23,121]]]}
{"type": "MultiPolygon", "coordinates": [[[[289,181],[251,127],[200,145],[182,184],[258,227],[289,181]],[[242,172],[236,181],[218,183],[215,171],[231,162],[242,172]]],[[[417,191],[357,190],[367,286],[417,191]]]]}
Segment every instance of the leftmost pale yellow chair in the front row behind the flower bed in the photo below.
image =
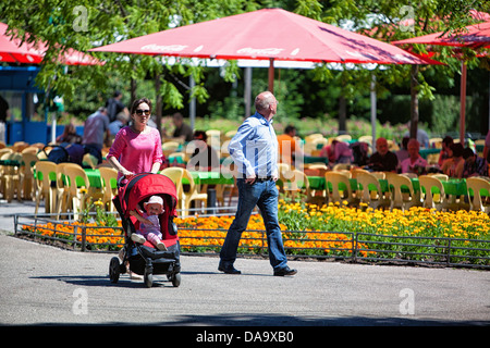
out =
{"type": "Polygon", "coordinates": [[[35,165],[36,170],[36,182],[37,182],[37,192],[36,192],[36,209],[34,214],[37,215],[39,211],[40,200],[45,200],[45,212],[52,213],[57,209],[57,188],[51,185],[51,179],[49,175],[56,177],[57,175],[57,163],[50,161],[38,161],[35,165]]]}

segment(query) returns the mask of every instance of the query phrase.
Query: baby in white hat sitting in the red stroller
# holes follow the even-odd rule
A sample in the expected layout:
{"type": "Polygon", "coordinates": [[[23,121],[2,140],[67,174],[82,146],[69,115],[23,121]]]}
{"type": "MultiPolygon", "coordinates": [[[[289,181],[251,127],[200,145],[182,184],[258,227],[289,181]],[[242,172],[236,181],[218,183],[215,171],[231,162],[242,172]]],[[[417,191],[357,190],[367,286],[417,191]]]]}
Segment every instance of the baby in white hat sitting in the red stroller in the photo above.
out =
{"type": "Polygon", "coordinates": [[[164,212],[163,199],[160,196],[151,196],[143,206],[145,209],[143,215],[136,210],[130,211],[130,214],[139,221],[139,229],[131,235],[131,239],[139,244],[148,240],[158,250],[167,251],[167,247],[161,240],[162,234],[158,216],[164,212]]]}

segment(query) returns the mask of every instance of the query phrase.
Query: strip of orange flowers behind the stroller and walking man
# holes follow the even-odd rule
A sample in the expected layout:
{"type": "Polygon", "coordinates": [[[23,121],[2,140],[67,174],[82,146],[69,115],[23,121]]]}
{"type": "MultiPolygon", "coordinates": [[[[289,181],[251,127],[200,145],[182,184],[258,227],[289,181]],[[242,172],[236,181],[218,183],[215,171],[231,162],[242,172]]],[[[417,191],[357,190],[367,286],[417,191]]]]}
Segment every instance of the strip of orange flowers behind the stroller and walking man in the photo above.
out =
{"type": "MultiPolygon", "coordinates": [[[[179,238],[182,251],[219,252],[226,236],[228,228],[234,216],[191,216],[176,217],[179,238]]],[[[89,249],[118,250],[124,244],[123,232],[120,228],[103,227],[99,223],[60,222],[44,225],[25,225],[24,231],[35,233],[47,238],[61,238],[68,243],[82,243],[82,231],[85,229],[85,241],[89,249]],[[77,231],[75,228],[78,227],[77,231]]],[[[302,233],[287,232],[284,224],[280,224],[283,232],[284,247],[290,254],[341,254],[352,252],[352,236],[339,233],[319,233],[306,231],[302,233]]],[[[267,237],[261,215],[250,216],[247,231],[242,234],[240,251],[255,253],[267,248],[267,237]]],[[[365,249],[363,246],[359,248],[365,249]]],[[[366,251],[359,251],[366,254],[366,251]]]]}

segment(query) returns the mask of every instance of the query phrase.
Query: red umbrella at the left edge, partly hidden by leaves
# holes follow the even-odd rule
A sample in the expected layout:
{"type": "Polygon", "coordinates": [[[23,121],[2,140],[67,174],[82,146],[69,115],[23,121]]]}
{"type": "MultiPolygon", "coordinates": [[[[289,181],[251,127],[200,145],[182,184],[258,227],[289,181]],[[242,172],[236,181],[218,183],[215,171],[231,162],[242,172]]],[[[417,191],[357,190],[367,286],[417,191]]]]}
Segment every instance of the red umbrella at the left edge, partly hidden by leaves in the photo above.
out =
{"type": "MultiPolygon", "coordinates": [[[[21,39],[11,38],[7,35],[8,25],[0,23],[0,62],[39,64],[42,62],[48,46],[45,42],[34,44],[22,42],[21,39]]],[[[99,60],[89,54],[68,49],[60,54],[58,61],[66,65],[96,65],[102,64],[99,60]]]]}

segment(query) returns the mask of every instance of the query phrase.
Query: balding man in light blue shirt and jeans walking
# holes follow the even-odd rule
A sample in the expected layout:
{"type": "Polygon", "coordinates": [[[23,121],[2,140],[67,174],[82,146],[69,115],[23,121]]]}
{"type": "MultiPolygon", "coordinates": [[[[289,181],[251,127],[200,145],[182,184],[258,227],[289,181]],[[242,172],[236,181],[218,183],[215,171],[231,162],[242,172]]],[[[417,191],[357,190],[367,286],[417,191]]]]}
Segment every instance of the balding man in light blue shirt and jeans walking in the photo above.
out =
{"type": "Polygon", "coordinates": [[[256,113],[244,121],[229,145],[237,167],[238,207],[220,251],[218,270],[226,274],[241,274],[233,264],[242,233],[257,206],[266,225],[273,275],[294,275],[297,271],[287,266],[278,220],[278,138],[272,127],[278,101],[270,91],[265,91],[256,97],[255,108],[256,113]]]}

